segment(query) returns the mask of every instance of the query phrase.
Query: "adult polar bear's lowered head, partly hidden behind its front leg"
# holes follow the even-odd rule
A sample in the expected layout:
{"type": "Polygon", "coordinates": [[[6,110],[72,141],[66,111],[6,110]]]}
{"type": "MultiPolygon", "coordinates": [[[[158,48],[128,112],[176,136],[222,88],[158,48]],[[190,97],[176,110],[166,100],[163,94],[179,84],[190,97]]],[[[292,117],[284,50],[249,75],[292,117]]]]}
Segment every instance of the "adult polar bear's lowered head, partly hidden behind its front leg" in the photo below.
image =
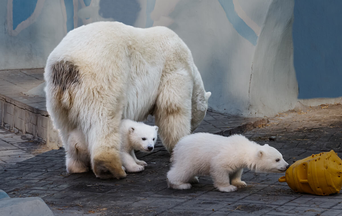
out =
{"type": "MultiPolygon", "coordinates": [[[[203,90],[204,91],[204,90],[203,90]]],[[[208,109],[208,99],[211,96],[211,92],[205,92],[197,96],[196,100],[192,103],[191,109],[191,132],[193,132],[200,124],[203,118],[206,116],[208,109]]]]}

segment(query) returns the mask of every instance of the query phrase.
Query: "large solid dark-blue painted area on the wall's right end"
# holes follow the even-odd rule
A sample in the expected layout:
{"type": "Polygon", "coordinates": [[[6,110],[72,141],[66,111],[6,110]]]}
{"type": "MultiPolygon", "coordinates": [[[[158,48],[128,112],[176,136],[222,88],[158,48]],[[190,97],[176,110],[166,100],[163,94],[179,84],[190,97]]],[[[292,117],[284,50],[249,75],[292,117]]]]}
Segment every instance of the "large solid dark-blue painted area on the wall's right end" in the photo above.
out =
{"type": "Polygon", "coordinates": [[[298,98],[342,96],[342,1],[294,4],[294,68],[298,98]]]}

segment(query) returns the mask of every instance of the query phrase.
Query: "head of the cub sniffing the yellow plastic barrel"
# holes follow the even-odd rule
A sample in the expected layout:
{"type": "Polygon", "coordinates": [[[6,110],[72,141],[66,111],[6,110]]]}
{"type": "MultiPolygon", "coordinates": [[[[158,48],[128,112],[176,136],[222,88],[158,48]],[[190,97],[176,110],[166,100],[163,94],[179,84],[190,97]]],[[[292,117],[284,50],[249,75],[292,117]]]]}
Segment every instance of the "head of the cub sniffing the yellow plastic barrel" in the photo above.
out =
{"type": "Polygon", "coordinates": [[[267,144],[261,146],[255,157],[255,169],[260,172],[282,173],[289,167],[280,152],[267,144]]]}

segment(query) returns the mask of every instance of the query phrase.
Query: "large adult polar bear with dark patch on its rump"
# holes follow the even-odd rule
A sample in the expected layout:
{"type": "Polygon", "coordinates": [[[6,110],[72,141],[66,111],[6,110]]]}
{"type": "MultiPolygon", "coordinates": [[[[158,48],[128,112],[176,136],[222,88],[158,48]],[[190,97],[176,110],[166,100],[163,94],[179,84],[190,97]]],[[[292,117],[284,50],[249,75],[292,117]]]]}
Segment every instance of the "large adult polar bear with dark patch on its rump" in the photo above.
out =
{"type": "Polygon", "coordinates": [[[100,178],[126,176],[119,156],[121,119],[142,121],[153,114],[171,152],[199,126],[211,95],[189,48],[166,27],[81,26],[52,51],[44,77],[47,109],[66,149],[67,171],[85,172],[91,164],[100,178]],[[70,133],[74,129],[78,134],[70,133]],[[71,146],[68,140],[78,143],[71,146]]]}

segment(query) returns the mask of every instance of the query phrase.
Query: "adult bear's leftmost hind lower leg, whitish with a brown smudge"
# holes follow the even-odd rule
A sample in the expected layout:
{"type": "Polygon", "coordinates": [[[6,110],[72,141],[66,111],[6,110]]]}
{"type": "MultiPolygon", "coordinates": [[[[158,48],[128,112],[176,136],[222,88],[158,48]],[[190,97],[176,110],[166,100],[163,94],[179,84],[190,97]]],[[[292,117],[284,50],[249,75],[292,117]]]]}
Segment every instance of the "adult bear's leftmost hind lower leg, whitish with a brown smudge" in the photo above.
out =
{"type": "Polygon", "coordinates": [[[77,129],[69,133],[69,138],[65,145],[66,170],[68,173],[88,172],[90,167],[90,157],[86,141],[83,134],[77,129]]]}

